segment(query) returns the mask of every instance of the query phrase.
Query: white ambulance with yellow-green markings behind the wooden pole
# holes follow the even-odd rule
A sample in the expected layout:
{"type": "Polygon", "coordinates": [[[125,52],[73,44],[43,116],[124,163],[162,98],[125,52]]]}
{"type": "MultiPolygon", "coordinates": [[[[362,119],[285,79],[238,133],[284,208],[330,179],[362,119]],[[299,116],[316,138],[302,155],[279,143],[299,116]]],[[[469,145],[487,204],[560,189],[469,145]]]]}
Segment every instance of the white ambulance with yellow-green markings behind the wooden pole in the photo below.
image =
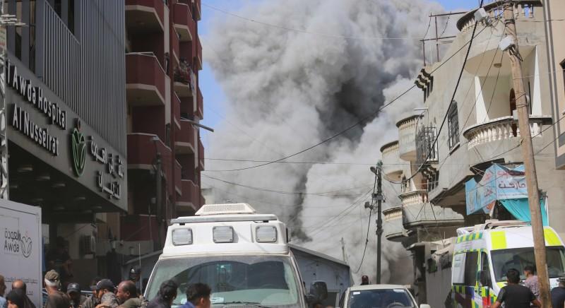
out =
{"type": "MultiPolygon", "coordinates": [[[[535,267],[532,227],[517,220],[487,220],[457,230],[451,268],[453,307],[489,307],[506,285],[506,271],[535,267]]],[[[565,247],[551,227],[544,227],[550,285],[565,272],[565,247]]],[[[522,276],[524,279],[524,277],[522,276]]]]}

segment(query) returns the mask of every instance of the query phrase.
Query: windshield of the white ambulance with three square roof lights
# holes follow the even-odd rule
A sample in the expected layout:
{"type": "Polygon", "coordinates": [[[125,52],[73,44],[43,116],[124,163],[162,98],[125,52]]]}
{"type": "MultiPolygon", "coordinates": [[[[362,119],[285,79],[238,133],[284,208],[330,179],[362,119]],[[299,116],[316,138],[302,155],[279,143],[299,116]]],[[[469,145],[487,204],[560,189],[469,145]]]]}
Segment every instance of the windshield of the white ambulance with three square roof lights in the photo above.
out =
{"type": "Polygon", "coordinates": [[[172,307],[186,303],[186,288],[206,283],[212,288],[213,307],[246,304],[246,307],[297,307],[299,286],[290,258],[284,256],[206,256],[162,259],[151,278],[147,299],[172,279],[179,285],[172,307]]]}

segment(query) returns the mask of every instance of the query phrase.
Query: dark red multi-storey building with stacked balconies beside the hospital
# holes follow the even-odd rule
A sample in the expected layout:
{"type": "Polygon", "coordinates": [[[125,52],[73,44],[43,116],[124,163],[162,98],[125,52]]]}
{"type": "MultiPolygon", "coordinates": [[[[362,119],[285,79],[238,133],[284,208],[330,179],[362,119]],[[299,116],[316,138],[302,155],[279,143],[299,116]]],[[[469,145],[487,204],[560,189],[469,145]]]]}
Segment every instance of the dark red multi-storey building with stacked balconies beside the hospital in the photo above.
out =
{"type": "Polygon", "coordinates": [[[126,247],[162,249],[167,222],[203,204],[204,148],[198,123],[202,46],[199,0],[126,0],[129,202],[126,247]]]}

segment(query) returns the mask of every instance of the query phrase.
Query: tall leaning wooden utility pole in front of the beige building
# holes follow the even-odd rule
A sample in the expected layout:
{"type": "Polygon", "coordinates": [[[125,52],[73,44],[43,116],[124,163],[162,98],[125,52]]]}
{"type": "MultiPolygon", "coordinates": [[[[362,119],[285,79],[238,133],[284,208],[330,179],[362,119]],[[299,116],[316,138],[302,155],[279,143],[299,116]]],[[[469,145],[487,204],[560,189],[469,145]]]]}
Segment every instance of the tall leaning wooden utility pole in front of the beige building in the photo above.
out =
{"type": "MultiPolygon", "coordinates": [[[[532,233],[534,239],[535,266],[537,277],[540,282],[540,298],[543,308],[551,307],[549,295],[549,277],[547,274],[547,259],[545,251],[545,238],[542,224],[542,213],[540,208],[540,191],[537,187],[537,172],[535,171],[535,159],[530,132],[530,108],[525,97],[524,83],[522,77],[522,59],[518,52],[518,40],[516,38],[516,22],[514,20],[513,4],[510,1],[504,3],[504,25],[506,33],[511,38],[513,45],[506,48],[509,54],[512,68],[512,82],[516,92],[516,109],[518,111],[518,128],[522,136],[521,148],[525,167],[525,180],[528,185],[528,203],[530,204],[530,215],[532,218],[532,233]]],[[[504,40],[504,39],[503,39],[504,40]]]]}

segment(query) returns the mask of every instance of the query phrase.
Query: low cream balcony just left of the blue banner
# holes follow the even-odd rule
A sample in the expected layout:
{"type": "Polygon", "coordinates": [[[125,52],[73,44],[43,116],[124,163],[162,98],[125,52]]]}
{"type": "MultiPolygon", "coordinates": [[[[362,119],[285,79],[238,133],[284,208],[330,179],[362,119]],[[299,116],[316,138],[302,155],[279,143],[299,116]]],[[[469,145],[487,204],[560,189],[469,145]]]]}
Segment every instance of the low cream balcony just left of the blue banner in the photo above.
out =
{"type": "Polygon", "coordinates": [[[409,230],[414,227],[446,227],[463,224],[463,216],[450,208],[441,208],[428,202],[426,190],[409,191],[400,194],[402,200],[403,226],[409,230]]]}

